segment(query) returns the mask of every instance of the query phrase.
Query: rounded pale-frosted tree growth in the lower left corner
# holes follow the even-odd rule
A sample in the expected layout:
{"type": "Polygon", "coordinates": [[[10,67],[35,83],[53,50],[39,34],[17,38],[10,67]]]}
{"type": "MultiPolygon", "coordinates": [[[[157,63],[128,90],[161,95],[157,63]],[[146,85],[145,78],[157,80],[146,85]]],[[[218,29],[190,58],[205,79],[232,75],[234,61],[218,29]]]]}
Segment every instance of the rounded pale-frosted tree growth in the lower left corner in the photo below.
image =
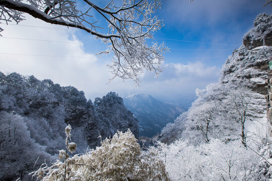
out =
{"type": "Polygon", "coordinates": [[[40,157],[49,159],[45,148],[30,137],[24,118],[15,114],[0,112],[0,180],[21,179],[30,171],[40,157]]]}

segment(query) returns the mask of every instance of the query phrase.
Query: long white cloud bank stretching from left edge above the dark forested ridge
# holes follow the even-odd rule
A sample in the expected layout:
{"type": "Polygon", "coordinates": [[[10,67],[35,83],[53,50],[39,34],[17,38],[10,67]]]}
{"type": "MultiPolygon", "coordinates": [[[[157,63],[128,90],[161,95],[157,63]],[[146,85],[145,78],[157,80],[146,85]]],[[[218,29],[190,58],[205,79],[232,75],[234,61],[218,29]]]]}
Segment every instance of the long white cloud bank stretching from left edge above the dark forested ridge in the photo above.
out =
{"type": "MultiPolygon", "coordinates": [[[[20,25],[63,28],[48,25],[27,16],[20,25]]],[[[3,27],[3,26],[2,26],[3,27]]],[[[219,78],[220,70],[201,62],[165,64],[164,71],[158,78],[154,73],[143,74],[140,87],[134,87],[132,80],[120,78],[108,83],[112,74],[106,67],[110,57],[97,57],[86,53],[83,43],[75,36],[75,31],[24,27],[8,25],[3,27],[3,37],[17,37],[63,41],[47,42],[0,38],[0,53],[35,54],[48,56],[4,55],[0,54],[0,71],[18,72],[23,75],[34,75],[38,79],[49,78],[61,86],[72,85],[85,92],[92,100],[110,91],[126,96],[129,93],[145,93],[167,100],[178,100],[186,95],[194,95],[195,88],[204,88],[208,83],[219,78]],[[49,56],[49,55],[56,55],[49,56]],[[74,58],[72,58],[74,57],[74,58]],[[83,58],[79,58],[83,57],[83,58]],[[107,84],[108,83],[108,84],[107,84]]],[[[92,46],[99,46],[100,41],[92,41],[92,46]]]]}

